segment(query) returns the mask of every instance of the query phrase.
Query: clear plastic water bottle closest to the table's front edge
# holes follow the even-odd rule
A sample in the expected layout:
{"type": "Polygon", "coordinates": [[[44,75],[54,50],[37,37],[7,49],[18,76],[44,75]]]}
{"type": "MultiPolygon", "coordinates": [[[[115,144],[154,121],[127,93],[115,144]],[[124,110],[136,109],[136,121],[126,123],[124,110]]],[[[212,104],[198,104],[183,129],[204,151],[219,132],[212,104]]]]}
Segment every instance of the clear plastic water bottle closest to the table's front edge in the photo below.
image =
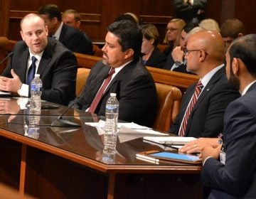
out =
{"type": "Polygon", "coordinates": [[[103,154],[115,154],[117,146],[117,122],[119,102],[115,93],[110,93],[106,104],[106,122],[103,154]]]}

